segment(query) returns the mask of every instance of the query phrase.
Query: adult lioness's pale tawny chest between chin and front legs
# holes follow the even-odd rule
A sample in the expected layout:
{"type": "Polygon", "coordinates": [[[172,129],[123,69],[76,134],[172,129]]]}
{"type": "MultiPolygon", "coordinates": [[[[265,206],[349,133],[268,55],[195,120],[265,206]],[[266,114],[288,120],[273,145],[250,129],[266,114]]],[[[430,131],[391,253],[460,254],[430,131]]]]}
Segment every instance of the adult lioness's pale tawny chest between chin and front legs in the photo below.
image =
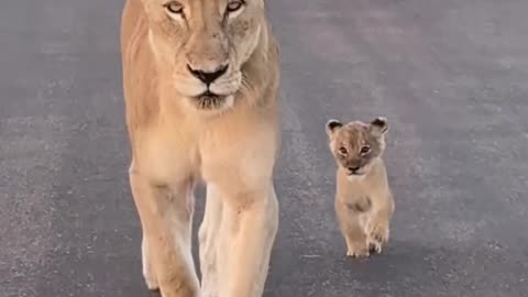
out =
{"type": "Polygon", "coordinates": [[[250,186],[271,177],[276,123],[237,113],[222,117],[209,121],[161,118],[140,133],[135,162],[160,184],[193,178],[250,186]]]}

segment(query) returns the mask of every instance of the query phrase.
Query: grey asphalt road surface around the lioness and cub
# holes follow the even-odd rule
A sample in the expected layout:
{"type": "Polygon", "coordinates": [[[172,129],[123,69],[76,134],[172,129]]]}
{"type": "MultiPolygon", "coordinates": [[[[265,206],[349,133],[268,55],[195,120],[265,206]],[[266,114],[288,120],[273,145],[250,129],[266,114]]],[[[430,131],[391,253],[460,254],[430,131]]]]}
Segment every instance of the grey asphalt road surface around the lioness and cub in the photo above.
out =
{"type": "MultiPolygon", "coordinates": [[[[282,43],[266,297],[528,294],[528,1],[267,1],[282,43]],[[344,257],[323,131],[386,116],[392,241],[344,257]]],[[[140,297],[122,1],[0,8],[0,296],[140,297]]],[[[196,219],[201,219],[202,197],[196,219]]]]}

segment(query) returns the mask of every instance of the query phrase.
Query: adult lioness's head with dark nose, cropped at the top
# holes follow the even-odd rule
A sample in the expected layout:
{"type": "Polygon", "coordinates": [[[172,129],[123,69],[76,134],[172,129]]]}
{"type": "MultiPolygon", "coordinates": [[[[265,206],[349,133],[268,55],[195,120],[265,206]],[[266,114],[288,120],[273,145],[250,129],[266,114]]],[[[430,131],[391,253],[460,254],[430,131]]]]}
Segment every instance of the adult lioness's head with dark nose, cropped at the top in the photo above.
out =
{"type": "Polygon", "coordinates": [[[261,41],[264,0],[141,0],[150,43],[178,94],[198,109],[232,105],[261,41]]]}

